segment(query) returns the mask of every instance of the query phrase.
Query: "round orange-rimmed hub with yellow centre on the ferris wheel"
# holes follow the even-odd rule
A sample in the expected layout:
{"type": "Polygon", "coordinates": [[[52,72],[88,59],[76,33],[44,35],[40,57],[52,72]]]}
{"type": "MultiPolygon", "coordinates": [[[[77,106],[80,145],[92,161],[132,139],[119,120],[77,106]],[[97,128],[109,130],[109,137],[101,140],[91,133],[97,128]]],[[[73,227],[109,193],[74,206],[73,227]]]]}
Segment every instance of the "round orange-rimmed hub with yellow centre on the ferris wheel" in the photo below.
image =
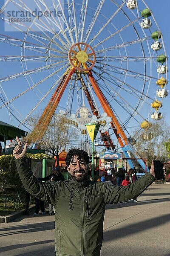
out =
{"type": "Polygon", "coordinates": [[[94,67],[96,55],[94,49],[86,43],[76,43],[68,51],[70,64],[78,71],[88,71],[94,67]]]}

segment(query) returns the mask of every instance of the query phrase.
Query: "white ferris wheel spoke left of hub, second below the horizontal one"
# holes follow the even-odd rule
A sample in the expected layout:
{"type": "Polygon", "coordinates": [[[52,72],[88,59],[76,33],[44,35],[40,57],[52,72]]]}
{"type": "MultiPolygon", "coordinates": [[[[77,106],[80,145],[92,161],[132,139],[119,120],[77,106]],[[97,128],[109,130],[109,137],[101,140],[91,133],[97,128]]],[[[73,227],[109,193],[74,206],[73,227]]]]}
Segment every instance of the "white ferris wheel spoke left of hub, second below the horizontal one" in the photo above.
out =
{"type": "Polygon", "coordinates": [[[9,103],[13,102],[15,99],[18,99],[20,96],[24,95],[25,93],[27,93],[28,91],[34,89],[35,87],[37,87],[39,84],[42,84],[44,81],[48,80],[49,78],[51,78],[52,76],[54,76],[57,72],[59,72],[60,70],[62,70],[63,68],[68,67],[69,64],[66,64],[65,66],[62,66],[61,68],[59,68],[58,70],[54,71],[53,73],[51,73],[49,76],[46,76],[45,78],[43,78],[42,80],[40,80],[39,82],[37,82],[36,84],[34,84],[33,86],[29,87],[28,89],[26,89],[25,91],[23,91],[22,93],[19,93],[17,96],[15,96],[13,99],[9,100],[8,102],[6,102],[4,105],[0,106],[0,109],[3,108],[4,106],[8,105],[9,103]]]}

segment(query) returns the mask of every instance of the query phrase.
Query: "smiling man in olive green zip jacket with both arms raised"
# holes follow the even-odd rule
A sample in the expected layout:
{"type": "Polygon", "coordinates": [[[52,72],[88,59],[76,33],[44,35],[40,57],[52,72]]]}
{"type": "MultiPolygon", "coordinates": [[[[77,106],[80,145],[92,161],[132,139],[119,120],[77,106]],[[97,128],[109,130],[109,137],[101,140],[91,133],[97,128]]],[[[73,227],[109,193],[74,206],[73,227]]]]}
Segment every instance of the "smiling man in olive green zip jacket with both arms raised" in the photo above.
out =
{"type": "MultiPolygon", "coordinates": [[[[88,179],[89,157],[71,148],[65,158],[70,179],[43,183],[32,174],[26,162],[27,143],[13,154],[23,186],[31,194],[55,207],[56,256],[100,256],[106,204],[125,202],[140,195],[155,180],[150,172],[128,186],[115,186],[88,179]]],[[[165,174],[165,172],[164,172],[165,174]]]]}

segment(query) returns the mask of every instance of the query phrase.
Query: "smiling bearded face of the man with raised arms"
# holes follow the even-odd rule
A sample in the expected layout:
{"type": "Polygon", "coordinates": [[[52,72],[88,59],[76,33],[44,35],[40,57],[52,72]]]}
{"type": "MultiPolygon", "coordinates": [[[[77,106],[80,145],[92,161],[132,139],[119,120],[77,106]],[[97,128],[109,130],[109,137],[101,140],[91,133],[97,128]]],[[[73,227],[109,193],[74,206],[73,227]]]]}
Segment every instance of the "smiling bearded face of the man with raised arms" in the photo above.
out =
{"type": "Polygon", "coordinates": [[[88,165],[83,158],[73,156],[71,163],[67,166],[73,180],[83,181],[88,175],[88,165]]]}

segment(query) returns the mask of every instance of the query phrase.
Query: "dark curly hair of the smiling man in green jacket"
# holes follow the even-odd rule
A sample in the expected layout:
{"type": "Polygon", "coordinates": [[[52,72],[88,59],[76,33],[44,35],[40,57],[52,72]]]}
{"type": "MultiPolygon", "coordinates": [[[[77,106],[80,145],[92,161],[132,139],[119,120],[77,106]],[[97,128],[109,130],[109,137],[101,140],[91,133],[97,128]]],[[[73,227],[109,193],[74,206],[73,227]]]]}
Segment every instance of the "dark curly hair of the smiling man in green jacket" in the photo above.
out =
{"type": "Polygon", "coordinates": [[[73,162],[74,156],[78,156],[78,160],[83,158],[86,163],[89,163],[89,156],[86,151],[80,148],[70,148],[67,153],[67,156],[65,157],[65,163],[67,166],[69,166],[70,163],[73,162]]]}

